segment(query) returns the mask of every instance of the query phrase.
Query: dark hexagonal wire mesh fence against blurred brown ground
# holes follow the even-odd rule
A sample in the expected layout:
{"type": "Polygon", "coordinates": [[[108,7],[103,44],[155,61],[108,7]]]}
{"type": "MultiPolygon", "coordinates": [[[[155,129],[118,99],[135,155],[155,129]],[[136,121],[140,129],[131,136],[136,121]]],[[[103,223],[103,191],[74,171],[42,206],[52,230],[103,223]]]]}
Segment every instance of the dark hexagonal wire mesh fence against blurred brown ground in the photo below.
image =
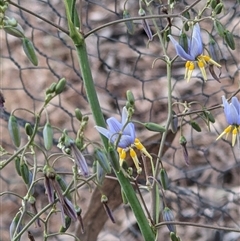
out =
{"type": "MultiPolygon", "coordinates": [[[[163,16],[177,16],[192,1],[169,1],[174,3],[174,12],[170,12],[169,4],[153,1],[152,14],[163,16]],[[169,12],[166,13],[166,9],[169,12]]],[[[216,1],[218,2],[218,1],[216,1]]],[[[161,48],[157,36],[149,41],[142,27],[142,20],[134,20],[134,34],[129,34],[124,22],[104,24],[123,18],[124,6],[132,17],[138,16],[139,2],[136,1],[80,1],[76,3],[77,11],[82,15],[82,31],[86,37],[88,56],[91,71],[104,117],[120,118],[123,106],[126,104],[126,91],[131,90],[135,97],[133,120],[141,122],[155,122],[165,125],[168,117],[168,88],[166,63],[162,60],[166,54],[161,48]],[[161,59],[159,59],[161,57],[161,59]]],[[[194,19],[206,4],[205,1],[196,1],[196,5],[189,10],[190,19],[194,19]]],[[[144,5],[147,12],[147,7],[144,5]]],[[[196,69],[189,82],[184,79],[184,61],[178,58],[172,66],[173,110],[181,121],[181,132],[187,141],[189,165],[186,165],[184,149],[179,144],[181,133],[168,131],[165,141],[164,155],[161,158],[169,177],[169,188],[160,191],[161,209],[167,203],[174,213],[175,220],[191,222],[193,224],[214,225],[219,229],[192,227],[191,225],[177,226],[181,240],[240,240],[239,232],[239,205],[240,205],[240,149],[232,147],[230,139],[216,141],[218,135],[226,127],[226,120],[221,106],[221,97],[230,98],[233,95],[239,99],[239,3],[225,1],[224,10],[218,15],[219,21],[228,29],[235,40],[235,50],[232,50],[226,39],[219,36],[213,21],[208,17],[212,9],[206,10],[203,21],[200,22],[201,34],[206,50],[209,49],[209,36],[216,41],[217,60],[221,69],[215,69],[219,82],[208,72],[208,81],[205,82],[201,71],[196,69]],[[215,122],[208,125],[200,111],[202,107],[211,111],[215,122]],[[188,113],[184,108],[188,108],[188,113]],[[200,110],[200,111],[199,111],[200,110]],[[198,112],[199,111],[199,112],[198,112]],[[192,113],[191,115],[189,113],[192,113]],[[191,116],[191,119],[189,118],[191,116]],[[184,117],[184,118],[182,118],[184,117]],[[201,131],[196,131],[190,125],[194,120],[201,131]],[[163,201],[164,200],[164,203],[163,201]],[[224,231],[220,227],[229,227],[234,231],[224,231]]],[[[84,137],[88,143],[100,140],[89,107],[82,73],[79,70],[77,54],[71,39],[67,36],[67,20],[63,1],[25,1],[9,2],[6,15],[17,19],[24,29],[25,35],[31,39],[38,57],[38,66],[33,66],[24,55],[22,42],[19,38],[1,31],[1,91],[5,98],[5,107],[1,112],[1,167],[6,160],[6,150],[9,154],[16,153],[8,131],[8,121],[11,112],[17,117],[21,126],[22,143],[28,141],[25,134],[26,123],[34,125],[35,117],[45,102],[45,91],[53,83],[65,77],[67,86],[63,93],[56,96],[46,108],[45,115],[41,116],[40,126],[44,126],[49,119],[51,125],[61,130],[66,129],[68,134],[75,138],[79,130],[79,121],[75,116],[75,109],[79,108],[83,115],[88,116],[88,125],[84,130],[84,137]],[[34,14],[32,14],[34,13],[34,14]],[[48,20],[49,22],[46,22],[48,20]],[[56,26],[58,26],[56,28],[56,26]],[[27,111],[25,111],[26,109],[27,111]]],[[[149,14],[151,15],[151,14],[149,14]]],[[[170,18],[169,18],[170,19],[170,18]]],[[[159,31],[163,31],[169,24],[166,17],[156,18],[159,31]]],[[[156,32],[151,19],[147,19],[153,33],[156,32]]],[[[171,17],[171,34],[179,36],[182,21],[171,17]],[[181,23],[180,23],[181,22],[181,23]],[[175,27],[177,26],[177,27],[175,27]]],[[[161,32],[163,38],[164,32],[161,32]]],[[[165,40],[166,40],[165,39],[165,40]]],[[[171,42],[166,42],[167,54],[170,58],[176,55],[171,42]]],[[[54,129],[55,130],[55,129],[54,129]]],[[[57,130],[57,129],[56,129],[57,130]]],[[[156,159],[160,134],[153,134],[136,123],[137,136],[144,143],[148,152],[156,159]]],[[[54,131],[53,148],[51,153],[59,151],[57,144],[61,133],[54,131]]],[[[37,145],[43,145],[41,128],[35,139],[37,145]]],[[[93,173],[93,145],[87,145],[84,155],[93,173]]],[[[186,151],[186,150],[185,150],[186,151]]],[[[50,153],[50,151],[49,151],[50,153]]],[[[186,153],[185,153],[186,154],[186,153]]],[[[33,168],[35,161],[41,169],[44,166],[45,156],[39,151],[34,160],[31,149],[26,153],[29,167],[33,168]]],[[[72,162],[61,158],[54,167],[67,183],[72,180],[72,162]]],[[[34,205],[28,204],[25,222],[43,210],[48,205],[43,174],[39,172],[34,185],[34,205]]],[[[81,179],[82,180],[82,179],[81,179]]],[[[24,240],[74,240],[74,234],[80,240],[143,240],[136,220],[128,205],[124,205],[121,190],[116,179],[108,175],[101,188],[95,189],[91,178],[83,181],[78,189],[77,203],[82,209],[82,221],[85,232],[82,233],[79,222],[72,223],[65,235],[54,235],[61,226],[60,215],[47,216],[43,212],[40,222],[48,219],[47,228],[33,223],[28,232],[24,233],[24,240]],[[101,190],[101,191],[99,191],[101,190]],[[112,210],[115,223],[107,217],[101,203],[101,194],[108,197],[108,205],[112,210]],[[44,237],[43,230],[50,235],[44,237]],[[31,235],[34,239],[31,239],[31,235]],[[45,238],[45,239],[44,239],[45,238]]],[[[146,190],[146,179],[140,175],[138,182],[141,185],[142,196],[148,209],[151,209],[151,195],[146,190]]],[[[14,161],[4,166],[0,172],[1,188],[1,222],[0,240],[10,240],[10,224],[22,207],[22,199],[27,193],[26,185],[15,170],[14,161]],[[17,194],[17,195],[16,195],[17,194]]],[[[162,221],[162,217],[160,217],[162,221]]],[[[43,223],[43,222],[42,222],[43,223]]],[[[169,231],[166,226],[159,229],[158,240],[168,240],[169,231]]]]}

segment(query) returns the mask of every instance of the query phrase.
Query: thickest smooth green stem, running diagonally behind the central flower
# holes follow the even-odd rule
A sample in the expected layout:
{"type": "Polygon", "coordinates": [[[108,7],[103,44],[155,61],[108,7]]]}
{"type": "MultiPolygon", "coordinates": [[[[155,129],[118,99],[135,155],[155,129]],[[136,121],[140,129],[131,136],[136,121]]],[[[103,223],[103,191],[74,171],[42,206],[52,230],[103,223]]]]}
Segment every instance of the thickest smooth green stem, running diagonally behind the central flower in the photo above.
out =
{"type": "MultiPolygon", "coordinates": [[[[85,86],[85,90],[87,93],[87,98],[89,101],[89,105],[91,107],[93,117],[95,119],[95,123],[98,126],[106,127],[106,123],[102,114],[102,110],[98,101],[97,93],[94,86],[94,81],[92,78],[91,68],[88,60],[88,54],[86,49],[86,44],[84,37],[81,33],[77,32],[76,28],[74,29],[73,23],[71,22],[71,13],[69,12],[69,2],[64,0],[66,15],[68,19],[68,26],[70,31],[70,37],[75,44],[79,65],[82,73],[82,78],[85,86]]],[[[106,150],[108,150],[108,140],[101,136],[102,142],[106,150]]],[[[128,202],[132,208],[132,211],[137,219],[139,228],[142,232],[142,235],[146,241],[154,241],[155,235],[153,230],[151,229],[149,222],[145,216],[145,213],[141,207],[141,204],[135,194],[135,191],[130,184],[130,181],[124,176],[122,171],[116,171],[115,174],[118,178],[118,181],[128,199],[128,202]]]]}

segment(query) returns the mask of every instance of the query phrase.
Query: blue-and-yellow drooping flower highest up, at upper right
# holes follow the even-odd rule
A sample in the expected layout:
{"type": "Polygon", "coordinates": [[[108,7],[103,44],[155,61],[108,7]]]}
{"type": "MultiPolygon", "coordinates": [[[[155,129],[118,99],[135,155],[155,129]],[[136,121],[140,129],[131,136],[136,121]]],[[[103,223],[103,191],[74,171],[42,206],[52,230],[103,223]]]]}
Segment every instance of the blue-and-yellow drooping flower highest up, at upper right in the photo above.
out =
{"type": "Polygon", "coordinates": [[[193,26],[191,38],[187,38],[187,46],[182,46],[171,35],[169,35],[169,38],[173,43],[178,56],[187,61],[185,64],[184,77],[187,79],[187,81],[190,80],[192,72],[195,69],[195,62],[197,62],[205,81],[207,80],[207,74],[205,70],[205,66],[207,64],[216,65],[219,68],[221,67],[221,65],[214,61],[210,56],[203,54],[203,43],[200,26],[198,23],[193,26]]]}

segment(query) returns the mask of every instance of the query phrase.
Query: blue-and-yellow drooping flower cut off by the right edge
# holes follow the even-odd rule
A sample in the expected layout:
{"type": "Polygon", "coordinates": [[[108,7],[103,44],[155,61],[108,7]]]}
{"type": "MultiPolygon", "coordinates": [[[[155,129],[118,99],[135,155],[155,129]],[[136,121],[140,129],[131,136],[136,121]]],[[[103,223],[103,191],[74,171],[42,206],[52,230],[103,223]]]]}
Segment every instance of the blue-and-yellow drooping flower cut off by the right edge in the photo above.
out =
{"type": "Polygon", "coordinates": [[[236,140],[238,145],[240,145],[240,102],[237,97],[232,98],[232,102],[228,103],[225,96],[222,97],[224,113],[228,123],[228,127],[218,136],[217,140],[222,136],[228,136],[229,133],[232,134],[232,146],[235,145],[236,140]]]}

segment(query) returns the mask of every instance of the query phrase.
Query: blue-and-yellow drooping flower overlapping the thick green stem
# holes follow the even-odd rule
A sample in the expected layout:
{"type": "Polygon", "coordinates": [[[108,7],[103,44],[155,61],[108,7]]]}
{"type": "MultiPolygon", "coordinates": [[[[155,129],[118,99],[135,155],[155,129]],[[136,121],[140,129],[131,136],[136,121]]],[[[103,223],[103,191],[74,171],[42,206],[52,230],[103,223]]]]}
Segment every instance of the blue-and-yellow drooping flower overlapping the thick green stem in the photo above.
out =
{"type": "Polygon", "coordinates": [[[137,168],[137,172],[141,173],[142,168],[139,166],[139,160],[134,148],[140,150],[150,159],[151,155],[147,152],[146,148],[142,145],[138,138],[136,138],[135,127],[132,122],[128,120],[128,111],[124,107],[122,111],[122,120],[119,122],[115,117],[107,119],[108,129],[96,126],[98,132],[107,137],[109,141],[117,146],[119,153],[119,162],[122,166],[126,159],[126,154],[129,151],[130,156],[137,168]]]}

